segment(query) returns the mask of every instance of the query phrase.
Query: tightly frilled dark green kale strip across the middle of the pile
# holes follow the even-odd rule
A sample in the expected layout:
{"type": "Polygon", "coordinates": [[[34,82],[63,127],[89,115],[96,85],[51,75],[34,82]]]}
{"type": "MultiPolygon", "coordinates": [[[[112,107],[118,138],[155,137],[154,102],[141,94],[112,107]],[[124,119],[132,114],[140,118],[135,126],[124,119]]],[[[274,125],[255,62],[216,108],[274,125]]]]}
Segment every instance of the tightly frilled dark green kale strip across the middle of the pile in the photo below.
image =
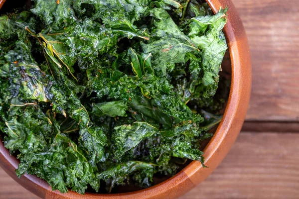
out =
{"type": "Polygon", "coordinates": [[[116,100],[134,100],[138,95],[152,98],[157,107],[178,121],[201,121],[200,115],[195,115],[191,109],[171,92],[172,86],[163,78],[154,75],[144,75],[142,78],[128,77],[124,75],[117,82],[113,82],[108,75],[101,70],[98,77],[92,80],[93,90],[99,97],[109,96],[116,100]]]}

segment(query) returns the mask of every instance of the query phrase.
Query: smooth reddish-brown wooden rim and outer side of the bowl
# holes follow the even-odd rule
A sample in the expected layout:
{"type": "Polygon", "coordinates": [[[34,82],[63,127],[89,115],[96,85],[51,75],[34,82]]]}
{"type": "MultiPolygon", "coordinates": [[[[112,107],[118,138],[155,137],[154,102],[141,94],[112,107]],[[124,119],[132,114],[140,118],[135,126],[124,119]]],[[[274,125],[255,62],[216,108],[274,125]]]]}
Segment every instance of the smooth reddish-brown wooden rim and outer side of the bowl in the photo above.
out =
{"type": "MultiPolygon", "coordinates": [[[[0,7],[5,0],[0,0],[0,7]]],[[[251,92],[251,61],[248,41],[238,12],[231,0],[207,0],[214,12],[228,6],[227,24],[224,32],[232,62],[232,82],[229,100],[221,123],[204,149],[205,165],[193,161],[174,177],[145,190],[126,194],[85,194],[69,191],[67,194],[53,192],[50,186],[36,176],[24,175],[18,179],[15,169],[18,160],[9,155],[0,142],[0,166],[16,182],[35,195],[45,199],[171,199],[177,198],[206,179],[220,164],[235,142],[243,125],[251,92]]],[[[216,188],[215,188],[216,189],[216,188]]]]}

